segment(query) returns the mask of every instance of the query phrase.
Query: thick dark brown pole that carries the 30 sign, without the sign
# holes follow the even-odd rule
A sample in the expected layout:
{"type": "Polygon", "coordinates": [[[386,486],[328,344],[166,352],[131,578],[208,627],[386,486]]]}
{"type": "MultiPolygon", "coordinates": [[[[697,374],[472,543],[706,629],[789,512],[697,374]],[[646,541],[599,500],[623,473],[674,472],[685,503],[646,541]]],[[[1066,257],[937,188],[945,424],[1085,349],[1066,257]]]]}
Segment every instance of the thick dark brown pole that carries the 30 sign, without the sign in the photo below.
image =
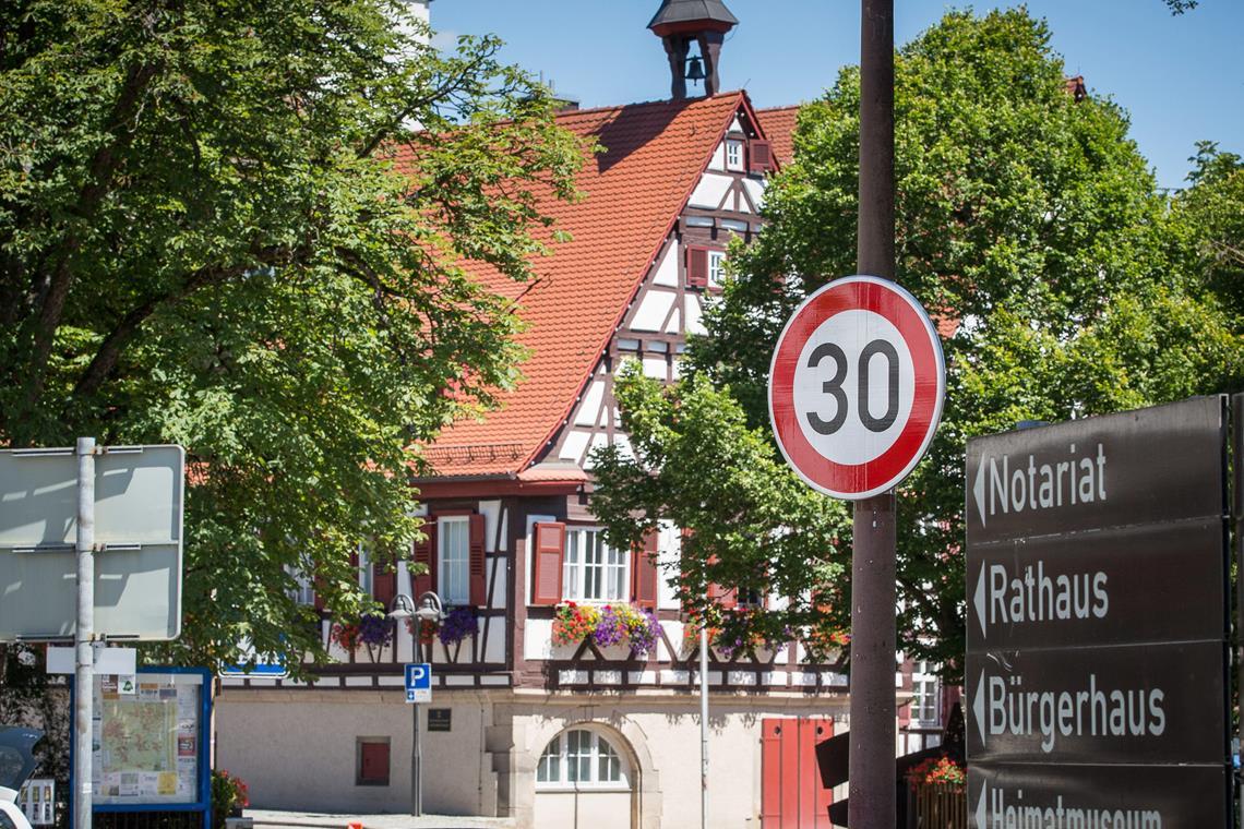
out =
{"type": "MultiPolygon", "coordinates": [[[[858,272],[894,278],[894,2],[862,0],[858,272]]],[[[851,829],[893,829],[894,493],[855,506],[851,557],[851,829]]]]}

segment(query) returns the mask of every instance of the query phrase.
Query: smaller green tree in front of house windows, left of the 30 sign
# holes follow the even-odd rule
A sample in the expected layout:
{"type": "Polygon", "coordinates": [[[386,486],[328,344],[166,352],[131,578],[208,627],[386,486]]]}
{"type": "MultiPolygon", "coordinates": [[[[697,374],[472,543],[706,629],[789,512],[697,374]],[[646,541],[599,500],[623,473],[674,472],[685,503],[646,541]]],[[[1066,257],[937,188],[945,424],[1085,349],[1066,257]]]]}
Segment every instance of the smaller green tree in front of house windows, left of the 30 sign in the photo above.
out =
{"type": "Polygon", "coordinates": [[[628,363],[615,394],[634,455],[611,445],[593,456],[601,486],[592,512],[611,543],[642,548],[658,521],[672,521],[685,531],[682,567],[664,577],[685,611],[720,628],[725,641],[786,641],[799,631],[826,654],[831,636],[851,624],[843,506],[796,480],[771,441],[748,426],[730,390],[703,375],[663,388],[628,363]],[[765,614],[723,614],[710,584],[738,587],[744,600],[782,600],[765,614]]]}

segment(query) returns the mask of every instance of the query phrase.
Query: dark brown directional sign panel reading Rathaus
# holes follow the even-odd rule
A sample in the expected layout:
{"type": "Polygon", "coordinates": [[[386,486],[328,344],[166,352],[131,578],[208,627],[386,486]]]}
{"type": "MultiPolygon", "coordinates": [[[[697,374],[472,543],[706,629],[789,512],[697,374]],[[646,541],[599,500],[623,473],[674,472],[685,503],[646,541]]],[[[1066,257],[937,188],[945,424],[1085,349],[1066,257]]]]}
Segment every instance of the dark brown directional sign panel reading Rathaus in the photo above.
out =
{"type": "Polygon", "coordinates": [[[968,651],[1223,639],[1225,579],[1220,517],[978,544],[968,651]]]}

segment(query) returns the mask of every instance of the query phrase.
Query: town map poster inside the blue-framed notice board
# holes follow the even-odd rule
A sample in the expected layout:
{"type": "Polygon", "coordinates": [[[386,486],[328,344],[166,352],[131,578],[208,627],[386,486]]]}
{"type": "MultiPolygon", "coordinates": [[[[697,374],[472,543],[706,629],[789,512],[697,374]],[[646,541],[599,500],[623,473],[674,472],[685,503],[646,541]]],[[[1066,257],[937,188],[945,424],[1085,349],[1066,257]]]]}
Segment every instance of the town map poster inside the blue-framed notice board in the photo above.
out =
{"type": "Polygon", "coordinates": [[[95,802],[194,803],[203,677],[142,674],[138,679],[137,689],[133,676],[95,680],[95,802]]]}

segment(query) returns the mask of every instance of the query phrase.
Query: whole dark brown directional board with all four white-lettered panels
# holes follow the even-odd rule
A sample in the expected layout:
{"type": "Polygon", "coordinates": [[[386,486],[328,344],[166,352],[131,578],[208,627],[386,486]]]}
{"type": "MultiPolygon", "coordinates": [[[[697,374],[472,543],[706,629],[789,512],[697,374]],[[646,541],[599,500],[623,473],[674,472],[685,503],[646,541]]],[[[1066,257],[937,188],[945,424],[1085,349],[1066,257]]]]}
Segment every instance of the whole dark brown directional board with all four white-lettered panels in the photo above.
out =
{"type": "Polygon", "coordinates": [[[1214,396],[969,441],[970,825],[1229,825],[1225,428],[1214,396]]]}

